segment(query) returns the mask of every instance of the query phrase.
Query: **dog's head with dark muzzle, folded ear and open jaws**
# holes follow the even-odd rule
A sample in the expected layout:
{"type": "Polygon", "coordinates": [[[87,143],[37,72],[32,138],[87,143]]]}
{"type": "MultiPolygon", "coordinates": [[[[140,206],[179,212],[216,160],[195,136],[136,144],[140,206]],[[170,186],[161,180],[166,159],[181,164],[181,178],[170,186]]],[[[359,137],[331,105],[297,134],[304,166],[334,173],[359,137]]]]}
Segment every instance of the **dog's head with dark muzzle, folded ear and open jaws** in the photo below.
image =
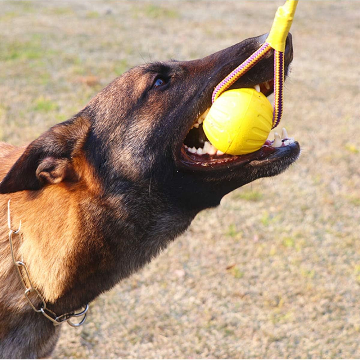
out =
{"type": "MultiPolygon", "coordinates": [[[[297,142],[231,156],[216,152],[202,131],[201,115],[214,87],[265,41],[251,38],[208,57],[135,67],[116,78],[67,122],[33,141],[0,184],[0,192],[38,190],[84,176],[79,157],[93,168],[105,193],[151,187],[185,210],[215,206],[223,195],[259,177],[277,175],[300,153],[297,142]],[[194,126],[195,125],[195,126],[194,126]],[[206,145],[204,145],[206,144],[206,145]],[[205,148],[204,148],[205,146],[205,148]],[[197,150],[194,149],[203,149],[197,150]]],[[[285,50],[292,60],[291,35],[285,50]]],[[[270,52],[231,88],[260,85],[273,92],[270,52]]]]}

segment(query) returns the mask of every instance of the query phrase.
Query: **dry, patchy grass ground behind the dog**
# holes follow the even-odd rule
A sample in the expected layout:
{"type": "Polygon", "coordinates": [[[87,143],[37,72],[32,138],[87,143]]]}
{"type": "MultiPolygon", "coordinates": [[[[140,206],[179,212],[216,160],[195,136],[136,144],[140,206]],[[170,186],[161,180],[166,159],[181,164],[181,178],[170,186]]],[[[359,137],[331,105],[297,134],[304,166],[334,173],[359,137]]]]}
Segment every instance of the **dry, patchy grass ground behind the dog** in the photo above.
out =
{"type": "MultiPolygon", "coordinates": [[[[280,2],[0,2],[0,140],[23,144],[143,62],[269,31],[280,2]]],[[[63,326],[54,358],[360,357],[360,3],[300,2],[284,174],[185,235],[63,326]]],[[[179,99],[181,101],[181,99],[179,99]]]]}

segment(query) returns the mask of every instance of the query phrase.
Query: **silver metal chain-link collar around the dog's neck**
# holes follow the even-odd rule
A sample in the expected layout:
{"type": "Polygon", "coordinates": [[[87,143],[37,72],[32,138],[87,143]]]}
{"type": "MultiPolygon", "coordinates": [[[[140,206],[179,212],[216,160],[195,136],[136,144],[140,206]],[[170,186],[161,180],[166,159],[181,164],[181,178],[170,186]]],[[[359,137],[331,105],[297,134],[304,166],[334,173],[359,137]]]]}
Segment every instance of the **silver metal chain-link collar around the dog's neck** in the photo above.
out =
{"type": "Polygon", "coordinates": [[[66,314],[57,316],[55,314],[55,312],[53,312],[53,311],[51,311],[50,309],[47,308],[44,298],[41,296],[40,292],[33,286],[32,282],[30,280],[29,272],[28,272],[27,267],[24,264],[24,262],[15,260],[14,249],[13,249],[13,235],[17,235],[19,237],[19,239],[20,239],[20,242],[21,242],[21,240],[22,240],[21,233],[20,233],[21,221],[20,221],[20,224],[19,224],[19,228],[17,230],[14,230],[14,229],[11,228],[10,200],[8,201],[8,228],[9,228],[10,252],[11,252],[11,257],[12,257],[12,260],[13,260],[13,264],[16,266],[16,269],[17,269],[18,274],[19,274],[19,278],[20,278],[21,283],[23,284],[23,287],[25,289],[24,295],[26,297],[26,300],[28,301],[28,303],[30,304],[32,309],[34,311],[36,311],[36,312],[41,312],[41,314],[44,315],[45,318],[47,318],[47,319],[49,319],[50,321],[53,322],[54,326],[60,325],[64,321],[67,321],[67,323],[69,325],[73,326],[73,327],[78,327],[78,326],[81,326],[82,324],[84,324],[85,320],[86,320],[86,312],[87,312],[87,310],[89,310],[89,304],[87,304],[85,306],[85,309],[82,310],[81,312],[75,313],[74,311],[72,311],[72,312],[67,312],[66,314]],[[24,270],[23,272],[20,270],[21,268],[24,270]],[[29,284],[30,287],[28,287],[27,284],[29,284]],[[30,299],[30,293],[31,292],[35,293],[36,298],[38,300],[40,300],[41,303],[42,303],[40,305],[39,309],[37,309],[36,305],[34,304],[35,301],[30,299]],[[70,321],[71,318],[77,318],[79,316],[84,316],[84,317],[78,323],[74,324],[74,323],[72,323],[70,321]]]}

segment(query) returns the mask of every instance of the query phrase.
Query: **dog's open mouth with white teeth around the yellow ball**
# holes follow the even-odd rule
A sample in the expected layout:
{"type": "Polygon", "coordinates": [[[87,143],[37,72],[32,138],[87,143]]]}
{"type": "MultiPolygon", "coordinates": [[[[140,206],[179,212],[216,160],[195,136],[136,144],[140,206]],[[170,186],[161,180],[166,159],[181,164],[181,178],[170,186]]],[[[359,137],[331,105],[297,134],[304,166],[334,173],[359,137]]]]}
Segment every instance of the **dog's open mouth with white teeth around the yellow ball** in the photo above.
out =
{"type": "MultiPolygon", "coordinates": [[[[265,96],[273,93],[274,81],[265,81],[261,84],[255,85],[257,91],[261,91],[265,96]]],[[[222,151],[216,149],[207,139],[202,122],[204,121],[210,108],[206,109],[193,123],[180,151],[180,161],[187,167],[199,168],[218,168],[222,166],[240,165],[249,163],[254,160],[265,160],[272,156],[279,150],[285,150],[285,147],[292,147],[292,144],[297,144],[294,138],[288,136],[285,128],[281,131],[281,136],[275,132],[274,140],[266,140],[262,147],[249,154],[244,155],[230,155],[224,154],[222,151]]],[[[280,151],[282,152],[282,151],[280,151]]]]}

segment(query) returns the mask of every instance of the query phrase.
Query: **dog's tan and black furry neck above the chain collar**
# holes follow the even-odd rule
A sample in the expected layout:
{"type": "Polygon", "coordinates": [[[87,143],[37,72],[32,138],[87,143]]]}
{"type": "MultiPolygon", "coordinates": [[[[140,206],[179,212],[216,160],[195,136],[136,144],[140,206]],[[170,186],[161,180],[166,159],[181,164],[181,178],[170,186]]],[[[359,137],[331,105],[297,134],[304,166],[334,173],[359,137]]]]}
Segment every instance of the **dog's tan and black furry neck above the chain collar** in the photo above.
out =
{"type": "MultiPolygon", "coordinates": [[[[13,306],[25,309],[23,288],[10,261],[6,202],[11,198],[12,227],[21,221],[22,243],[15,239],[14,251],[28,267],[31,280],[57,314],[79,309],[122,278],[129,276],[184,231],[192,216],[182,216],[137,190],[135,215],[126,205],[130,193],[91,196],[84,184],[45,186],[37,192],[1,195],[2,276],[12,274],[17,291],[13,306]],[[154,205],[155,204],[155,205],[154,205]],[[140,209],[139,209],[140,208],[140,209]],[[94,225],[96,224],[96,225],[94,225]],[[6,269],[4,268],[7,267],[6,269]]],[[[158,196],[154,190],[153,197],[158,196]]],[[[3,282],[0,279],[1,282],[3,282]]],[[[5,282],[4,282],[5,283],[5,282]]],[[[6,282],[8,283],[8,282],[6,282]]],[[[0,303],[5,302],[1,299],[0,303]]]]}

